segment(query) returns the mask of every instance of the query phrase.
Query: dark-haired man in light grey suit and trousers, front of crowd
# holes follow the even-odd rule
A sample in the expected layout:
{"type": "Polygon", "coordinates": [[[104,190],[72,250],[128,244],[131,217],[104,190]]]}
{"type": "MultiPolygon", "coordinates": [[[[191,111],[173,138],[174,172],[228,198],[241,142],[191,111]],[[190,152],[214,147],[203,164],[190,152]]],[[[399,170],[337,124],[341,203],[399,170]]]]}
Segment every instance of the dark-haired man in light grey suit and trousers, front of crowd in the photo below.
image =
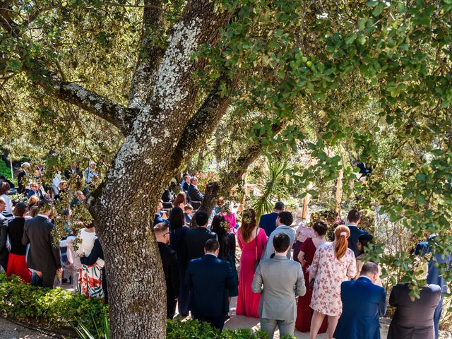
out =
{"type": "Polygon", "coordinates": [[[297,318],[295,298],[306,293],[302,266],[287,258],[291,244],[287,234],[276,234],[273,237],[275,256],[259,263],[251,284],[253,292],[262,293],[258,309],[261,330],[266,331],[270,339],[273,339],[276,326],[280,337],[294,335],[297,318]]]}

